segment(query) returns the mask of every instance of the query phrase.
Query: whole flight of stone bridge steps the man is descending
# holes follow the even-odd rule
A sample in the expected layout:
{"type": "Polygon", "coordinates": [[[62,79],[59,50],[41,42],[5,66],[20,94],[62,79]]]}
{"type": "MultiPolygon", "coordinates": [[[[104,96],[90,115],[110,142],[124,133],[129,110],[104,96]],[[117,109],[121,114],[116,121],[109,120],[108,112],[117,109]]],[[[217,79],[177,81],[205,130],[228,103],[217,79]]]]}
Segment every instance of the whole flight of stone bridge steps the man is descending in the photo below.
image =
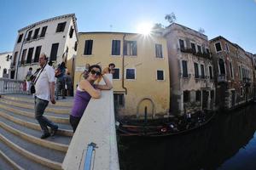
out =
{"type": "Polygon", "coordinates": [[[31,95],[0,98],[0,169],[61,169],[73,130],[69,112],[73,99],[49,105],[44,116],[59,126],[56,135],[40,139],[41,127],[34,118],[31,95]],[[2,163],[3,162],[3,163],[2,163]]]}

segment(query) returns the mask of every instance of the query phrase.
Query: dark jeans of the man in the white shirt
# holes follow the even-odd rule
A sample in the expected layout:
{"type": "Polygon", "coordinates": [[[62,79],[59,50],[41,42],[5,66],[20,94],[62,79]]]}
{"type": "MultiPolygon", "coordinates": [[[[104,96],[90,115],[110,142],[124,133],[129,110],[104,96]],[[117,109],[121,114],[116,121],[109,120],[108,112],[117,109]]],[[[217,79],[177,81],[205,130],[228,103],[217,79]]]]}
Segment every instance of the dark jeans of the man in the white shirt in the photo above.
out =
{"type": "Polygon", "coordinates": [[[44,99],[38,99],[35,97],[35,118],[38,120],[38,123],[43,130],[43,133],[49,133],[48,127],[56,129],[58,126],[53,122],[50,122],[44,115],[44,110],[47,107],[49,101],[44,99]],[[48,127],[47,127],[48,126],[48,127]]]}

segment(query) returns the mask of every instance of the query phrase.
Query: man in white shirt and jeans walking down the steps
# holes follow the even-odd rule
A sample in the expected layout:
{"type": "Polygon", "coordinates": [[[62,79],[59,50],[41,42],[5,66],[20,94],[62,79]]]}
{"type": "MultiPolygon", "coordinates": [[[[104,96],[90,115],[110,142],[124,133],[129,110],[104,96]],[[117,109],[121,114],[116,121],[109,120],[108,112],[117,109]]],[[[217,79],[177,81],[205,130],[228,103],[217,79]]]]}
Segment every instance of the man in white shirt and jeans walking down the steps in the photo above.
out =
{"type": "Polygon", "coordinates": [[[41,70],[35,79],[35,118],[43,131],[41,139],[46,139],[50,135],[55,135],[58,130],[57,125],[43,116],[49,100],[55,104],[55,71],[47,64],[45,54],[40,55],[39,65],[41,70]],[[50,133],[48,127],[50,127],[50,133]]]}

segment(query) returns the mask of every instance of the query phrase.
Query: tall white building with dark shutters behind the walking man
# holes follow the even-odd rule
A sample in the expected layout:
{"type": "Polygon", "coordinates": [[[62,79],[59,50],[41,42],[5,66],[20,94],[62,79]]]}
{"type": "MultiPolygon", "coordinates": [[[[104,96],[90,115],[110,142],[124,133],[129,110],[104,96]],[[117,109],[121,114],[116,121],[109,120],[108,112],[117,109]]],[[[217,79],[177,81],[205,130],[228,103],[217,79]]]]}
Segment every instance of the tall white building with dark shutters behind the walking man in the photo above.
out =
{"type": "Polygon", "coordinates": [[[29,67],[34,72],[41,53],[46,54],[54,65],[66,62],[67,69],[73,73],[77,41],[75,14],[57,16],[21,28],[13,51],[10,78],[24,79],[29,67]]]}

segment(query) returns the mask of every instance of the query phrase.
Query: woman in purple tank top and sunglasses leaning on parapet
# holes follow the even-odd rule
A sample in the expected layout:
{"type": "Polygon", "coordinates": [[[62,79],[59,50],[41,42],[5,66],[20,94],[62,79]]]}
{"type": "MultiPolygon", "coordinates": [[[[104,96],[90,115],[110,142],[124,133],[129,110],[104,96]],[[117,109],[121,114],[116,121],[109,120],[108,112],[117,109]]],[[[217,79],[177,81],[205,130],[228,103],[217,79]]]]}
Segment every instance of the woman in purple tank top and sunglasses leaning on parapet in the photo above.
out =
{"type": "Polygon", "coordinates": [[[73,127],[73,133],[75,133],[79,125],[80,119],[84,114],[90,98],[98,99],[101,97],[101,90],[110,90],[113,88],[108,77],[106,75],[102,76],[102,68],[99,65],[91,65],[88,72],[88,77],[79,82],[73,100],[71,115],[69,116],[69,122],[73,127]],[[100,77],[103,78],[106,85],[94,84],[100,77]]]}

